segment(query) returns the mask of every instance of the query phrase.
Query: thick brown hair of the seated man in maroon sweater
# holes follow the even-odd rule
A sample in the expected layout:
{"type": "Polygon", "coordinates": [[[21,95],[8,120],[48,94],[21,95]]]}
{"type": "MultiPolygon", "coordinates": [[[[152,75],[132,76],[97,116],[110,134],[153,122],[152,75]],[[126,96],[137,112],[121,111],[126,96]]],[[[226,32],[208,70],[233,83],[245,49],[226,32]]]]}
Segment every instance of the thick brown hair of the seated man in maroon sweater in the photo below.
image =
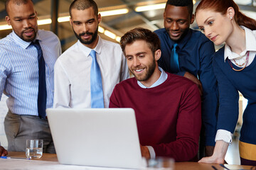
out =
{"type": "Polygon", "coordinates": [[[161,48],[160,40],[156,33],[153,33],[151,30],[148,30],[146,28],[134,28],[125,33],[120,40],[120,45],[122,51],[124,52],[124,55],[125,46],[127,44],[132,44],[132,42],[136,40],[145,40],[146,43],[149,45],[149,48],[151,49],[153,55],[156,50],[159,50],[161,48]]]}

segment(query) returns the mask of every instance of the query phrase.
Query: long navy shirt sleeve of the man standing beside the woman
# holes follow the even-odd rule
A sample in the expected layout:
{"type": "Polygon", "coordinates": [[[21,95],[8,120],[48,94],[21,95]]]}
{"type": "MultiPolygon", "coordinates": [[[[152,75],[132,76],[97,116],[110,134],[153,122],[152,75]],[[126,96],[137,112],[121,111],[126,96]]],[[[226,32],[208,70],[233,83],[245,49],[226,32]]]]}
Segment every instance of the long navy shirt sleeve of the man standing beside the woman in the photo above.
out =
{"type": "Polygon", "coordinates": [[[202,43],[198,50],[201,60],[198,77],[203,86],[203,128],[205,129],[206,146],[214,146],[218,114],[218,87],[212,66],[212,55],[215,52],[213,42],[210,42],[210,40],[207,39],[205,43],[202,43]]]}

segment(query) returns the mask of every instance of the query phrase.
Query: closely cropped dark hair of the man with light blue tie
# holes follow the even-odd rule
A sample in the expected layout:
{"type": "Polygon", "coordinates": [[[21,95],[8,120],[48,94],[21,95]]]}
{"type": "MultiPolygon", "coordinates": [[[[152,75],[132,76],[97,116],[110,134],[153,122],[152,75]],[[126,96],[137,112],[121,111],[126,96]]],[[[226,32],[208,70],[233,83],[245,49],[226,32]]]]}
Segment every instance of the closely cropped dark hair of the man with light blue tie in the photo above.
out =
{"type": "Polygon", "coordinates": [[[75,0],[70,4],[70,8],[69,8],[69,13],[70,13],[70,17],[71,16],[71,10],[73,8],[77,9],[77,10],[85,10],[87,8],[90,8],[92,6],[93,11],[95,13],[95,16],[97,16],[98,14],[98,8],[97,8],[97,4],[95,1],[93,0],[75,0]]]}

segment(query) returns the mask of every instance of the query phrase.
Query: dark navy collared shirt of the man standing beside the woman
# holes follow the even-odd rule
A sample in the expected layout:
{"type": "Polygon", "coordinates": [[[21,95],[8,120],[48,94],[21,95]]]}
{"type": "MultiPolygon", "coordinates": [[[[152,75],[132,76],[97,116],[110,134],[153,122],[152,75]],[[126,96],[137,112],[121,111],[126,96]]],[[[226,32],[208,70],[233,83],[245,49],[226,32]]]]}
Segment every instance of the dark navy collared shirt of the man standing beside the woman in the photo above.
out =
{"type": "MultiPolygon", "coordinates": [[[[176,43],[171,40],[164,28],[155,30],[161,41],[161,58],[159,67],[171,72],[171,47],[176,43]]],[[[189,29],[188,33],[178,41],[178,63],[183,76],[185,72],[193,74],[203,86],[202,120],[206,134],[206,146],[215,145],[218,112],[218,86],[215,78],[212,59],[215,52],[213,42],[198,30],[189,29]]]]}

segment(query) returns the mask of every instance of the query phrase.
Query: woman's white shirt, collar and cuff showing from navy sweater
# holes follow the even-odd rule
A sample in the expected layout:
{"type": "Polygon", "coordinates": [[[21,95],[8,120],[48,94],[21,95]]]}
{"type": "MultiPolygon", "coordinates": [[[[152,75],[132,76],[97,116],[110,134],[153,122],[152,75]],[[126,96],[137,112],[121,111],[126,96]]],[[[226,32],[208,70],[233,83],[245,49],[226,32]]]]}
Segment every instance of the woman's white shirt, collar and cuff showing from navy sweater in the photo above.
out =
{"type": "MultiPolygon", "coordinates": [[[[231,51],[230,46],[225,45],[224,62],[228,58],[233,64],[235,64],[237,67],[240,67],[240,66],[238,66],[238,64],[245,63],[246,57],[247,57],[247,52],[250,52],[248,63],[246,65],[246,67],[247,67],[252,63],[252,61],[255,59],[255,55],[256,55],[256,46],[255,46],[256,45],[256,30],[250,30],[250,29],[246,28],[245,26],[240,26],[240,27],[245,30],[245,50],[242,51],[238,55],[237,53],[231,51]]],[[[245,65],[242,65],[242,67],[244,67],[244,66],[245,65]]],[[[223,140],[224,142],[228,142],[231,144],[232,135],[233,134],[231,132],[229,132],[228,130],[218,130],[216,133],[215,141],[223,140]]]]}

